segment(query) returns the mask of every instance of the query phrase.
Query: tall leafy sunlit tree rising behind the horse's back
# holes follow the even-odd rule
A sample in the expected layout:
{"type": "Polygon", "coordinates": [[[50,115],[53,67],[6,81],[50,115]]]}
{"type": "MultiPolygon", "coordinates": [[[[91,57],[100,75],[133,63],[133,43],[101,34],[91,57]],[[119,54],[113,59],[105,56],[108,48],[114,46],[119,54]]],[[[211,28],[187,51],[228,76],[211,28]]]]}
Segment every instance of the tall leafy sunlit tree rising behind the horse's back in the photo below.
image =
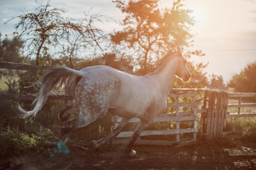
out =
{"type": "Polygon", "coordinates": [[[192,10],[182,9],[181,0],[174,2],[171,9],[160,9],[158,0],[130,0],[128,4],[121,0],[114,2],[126,17],[121,22],[124,29],[112,34],[111,40],[119,47],[132,49],[141,70],[150,68],[152,61],[168,46],[189,45],[193,37],[189,28],[195,20],[189,15],[192,10]]]}

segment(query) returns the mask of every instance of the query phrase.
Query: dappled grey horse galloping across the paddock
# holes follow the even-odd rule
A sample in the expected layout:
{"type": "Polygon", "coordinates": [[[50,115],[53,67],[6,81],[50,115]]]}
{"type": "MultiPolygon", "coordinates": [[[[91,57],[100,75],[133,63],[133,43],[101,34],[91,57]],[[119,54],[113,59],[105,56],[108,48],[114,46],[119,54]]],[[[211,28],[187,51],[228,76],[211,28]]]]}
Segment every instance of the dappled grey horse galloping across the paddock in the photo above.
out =
{"type": "Polygon", "coordinates": [[[175,75],[183,81],[188,81],[191,77],[186,62],[180,46],[177,46],[177,49],[169,50],[157,61],[157,69],[153,73],[144,76],[131,75],[102,65],[86,67],[80,71],[56,66],[34,82],[33,85],[41,83],[38,97],[33,102],[34,109],[26,111],[20,106],[19,109],[24,114],[23,117],[35,117],[47,101],[52,88],[59,83],[60,86],[65,85],[66,90],[72,91],[74,102],[59,113],[62,128],[56,147],[51,150],[52,154],[61,152],[59,144],[65,144],[72,130],[87,126],[109,111],[121,116],[121,122],[107,137],[92,141],[90,147],[95,149],[104,144],[118,135],[131,118],[138,117],[141,121],[126,149],[129,156],[133,157],[136,152],[132,150],[132,146],[141,131],[165,111],[166,98],[175,75]],[[70,116],[78,111],[79,115],[70,120],[70,116]]]}

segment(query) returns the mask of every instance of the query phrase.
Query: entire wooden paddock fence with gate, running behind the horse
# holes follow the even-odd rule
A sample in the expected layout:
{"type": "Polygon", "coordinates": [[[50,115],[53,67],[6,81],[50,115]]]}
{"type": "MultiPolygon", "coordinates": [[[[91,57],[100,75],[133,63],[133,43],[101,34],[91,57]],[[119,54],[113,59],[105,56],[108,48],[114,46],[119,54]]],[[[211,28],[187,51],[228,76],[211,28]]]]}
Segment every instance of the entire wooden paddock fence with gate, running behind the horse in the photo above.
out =
{"type": "MultiPolygon", "coordinates": [[[[34,68],[50,69],[52,67],[0,62],[0,68],[30,70],[34,68]]],[[[32,100],[34,97],[31,95],[0,94],[0,99],[32,100]]],[[[69,101],[73,97],[72,95],[50,95],[48,99],[69,101]]],[[[181,147],[194,144],[198,137],[218,139],[229,133],[223,131],[227,119],[256,116],[256,93],[231,93],[206,88],[176,88],[171,90],[167,101],[166,112],[154,121],[157,128],[142,131],[139,139],[135,141],[135,145],[176,145],[181,147]],[[245,112],[243,110],[246,109],[243,108],[252,108],[249,110],[253,111],[245,112]],[[159,127],[163,124],[167,127],[166,129],[159,127]],[[157,140],[155,140],[156,138],[157,140]]],[[[112,129],[117,127],[120,120],[120,117],[112,117],[112,129]]],[[[137,122],[139,119],[133,118],[129,123],[132,126],[137,122]]],[[[132,132],[133,130],[120,132],[112,139],[112,144],[128,144],[128,138],[131,137],[132,132]]]]}

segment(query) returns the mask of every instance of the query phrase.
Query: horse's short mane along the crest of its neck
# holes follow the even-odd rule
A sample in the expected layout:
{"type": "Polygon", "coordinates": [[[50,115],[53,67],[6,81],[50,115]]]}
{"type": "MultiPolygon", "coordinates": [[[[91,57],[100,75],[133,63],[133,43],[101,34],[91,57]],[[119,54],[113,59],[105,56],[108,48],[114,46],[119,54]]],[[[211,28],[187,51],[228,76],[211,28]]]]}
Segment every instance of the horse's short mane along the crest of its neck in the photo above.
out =
{"type": "Polygon", "coordinates": [[[159,58],[157,61],[156,61],[156,70],[155,70],[155,72],[154,73],[159,73],[159,72],[161,72],[163,69],[164,69],[164,67],[166,66],[166,64],[168,63],[168,61],[172,58],[172,57],[170,57],[170,56],[173,56],[173,53],[175,53],[175,52],[177,52],[177,49],[175,49],[175,48],[171,48],[171,49],[169,49],[166,53],[165,53],[165,55],[163,56],[163,57],[161,57],[161,58],[159,58]]]}

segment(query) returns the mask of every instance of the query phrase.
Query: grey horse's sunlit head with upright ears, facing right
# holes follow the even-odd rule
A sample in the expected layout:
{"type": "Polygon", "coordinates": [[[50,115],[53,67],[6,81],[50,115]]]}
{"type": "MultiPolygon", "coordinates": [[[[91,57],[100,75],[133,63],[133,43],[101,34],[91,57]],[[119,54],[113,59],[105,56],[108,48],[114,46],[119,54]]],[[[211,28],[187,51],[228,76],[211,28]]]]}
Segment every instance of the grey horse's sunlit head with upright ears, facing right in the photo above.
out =
{"type": "Polygon", "coordinates": [[[186,66],[187,61],[182,55],[180,46],[177,46],[176,55],[179,58],[179,60],[178,60],[178,66],[177,66],[177,71],[176,71],[175,75],[182,78],[183,81],[186,82],[191,77],[191,73],[190,73],[188,67],[186,66]]]}

